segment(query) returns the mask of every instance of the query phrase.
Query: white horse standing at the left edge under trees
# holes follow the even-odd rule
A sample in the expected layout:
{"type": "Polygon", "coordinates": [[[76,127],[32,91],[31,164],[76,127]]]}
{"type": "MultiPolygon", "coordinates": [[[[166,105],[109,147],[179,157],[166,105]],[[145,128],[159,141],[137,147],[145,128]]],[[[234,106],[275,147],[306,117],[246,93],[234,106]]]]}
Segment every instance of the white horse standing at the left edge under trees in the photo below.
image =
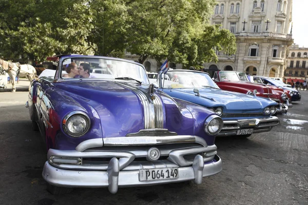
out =
{"type": "Polygon", "coordinates": [[[11,63],[9,61],[3,60],[0,58],[0,66],[5,72],[7,72],[10,76],[13,90],[16,91],[15,87],[15,78],[16,76],[27,77],[31,82],[36,77],[36,70],[33,66],[29,64],[19,64],[19,63],[11,63]]]}

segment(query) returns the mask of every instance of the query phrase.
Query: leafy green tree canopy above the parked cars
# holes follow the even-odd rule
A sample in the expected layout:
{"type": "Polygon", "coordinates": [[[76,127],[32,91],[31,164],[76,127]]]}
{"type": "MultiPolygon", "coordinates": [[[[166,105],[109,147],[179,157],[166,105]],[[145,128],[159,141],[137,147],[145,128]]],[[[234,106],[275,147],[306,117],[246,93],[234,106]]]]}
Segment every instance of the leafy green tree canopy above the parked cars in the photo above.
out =
{"type": "Polygon", "coordinates": [[[60,53],[168,58],[184,67],[234,54],[235,36],[210,25],[215,0],[0,0],[0,55],[60,53]]]}

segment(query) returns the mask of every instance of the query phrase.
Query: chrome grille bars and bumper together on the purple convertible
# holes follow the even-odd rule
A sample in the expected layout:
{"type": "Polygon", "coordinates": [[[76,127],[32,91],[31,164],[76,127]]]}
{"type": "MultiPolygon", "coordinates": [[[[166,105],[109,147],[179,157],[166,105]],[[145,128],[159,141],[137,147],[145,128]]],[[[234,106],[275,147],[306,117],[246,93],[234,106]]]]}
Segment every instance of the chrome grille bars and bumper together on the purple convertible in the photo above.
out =
{"type": "MultiPolygon", "coordinates": [[[[111,193],[117,193],[118,187],[135,187],[160,185],[187,180],[194,180],[200,185],[202,178],[219,173],[222,161],[216,155],[215,145],[207,146],[204,139],[198,136],[159,136],[159,137],[118,137],[90,139],[81,142],[75,150],[49,149],[48,161],[45,162],[43,178],[54,186],[59,187],[108,187],[111,193]],[[147,141],[147,143],[145,143],[147,141]],[[106,144],[105,144],[106,142],[106,144]],[[167,159],[157,161],[133,161],[143,152],[126,151],[98,151],[90,148],[104,148],[110,146],[128,145],[166,145],[176,143],[198,144],[198,147],[188,147],[172,150],[167,159]],[[89,150],[88,150],[89,149],[89,150]],[[203,153],[201,156],[197,153],[203,153]],[[196,154],[192,160],[185,159],[185,155],[196,154]],[[83,157],[110,157],[106,165],[83,165],[83,157]],[[178,167],[179,178],[140,181],[139,170],[151,168],[178,167]]],[[[166,157],[167,157],[166,156],[166,157]]]]}

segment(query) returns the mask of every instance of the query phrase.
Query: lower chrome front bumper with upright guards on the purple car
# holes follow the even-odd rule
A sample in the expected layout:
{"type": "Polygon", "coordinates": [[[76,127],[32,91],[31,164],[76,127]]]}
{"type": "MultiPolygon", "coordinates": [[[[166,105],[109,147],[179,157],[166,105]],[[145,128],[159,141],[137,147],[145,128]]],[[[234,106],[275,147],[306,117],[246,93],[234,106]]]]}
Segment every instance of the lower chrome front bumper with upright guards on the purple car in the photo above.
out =
{"type": "Polygon", "coordinates": [[[51,166],[46,161],[42,175],[48,183],[54,186],[108,187],[111,193],[117,193],[118,187],[151,186],[188,180],[194,180],[200,185],[203,177],[215,175],[222,170],[222,161],[217,155],[215,155],[216,162],[204,164],[202,159],[201,155],[197,155],[192,166],[179,167],[179,178],[176,179],[139,181],[139,170],[120,171],[119,160],[115,157],[110,160],[107,171],[63,170],[51,166]]]}

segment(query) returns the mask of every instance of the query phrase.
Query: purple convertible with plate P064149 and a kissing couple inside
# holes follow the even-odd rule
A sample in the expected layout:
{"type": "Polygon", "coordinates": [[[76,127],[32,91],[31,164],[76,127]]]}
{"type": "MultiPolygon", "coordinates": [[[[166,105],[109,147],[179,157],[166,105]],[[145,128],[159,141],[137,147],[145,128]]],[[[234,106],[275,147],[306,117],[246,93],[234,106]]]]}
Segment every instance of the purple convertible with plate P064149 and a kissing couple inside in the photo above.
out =
{"type": "Polygon", "coordinates": [[[201,184],[219,173],[214,141],[222,119],[156,88],[141,64],[83,55],[59,56],[56,71],[32,81],[26,107],[46,142],[48,191],[108,187],[116,193],[118,187],[201,184]],[[102,72],[63,77],[70,65],[102,72]]]}

